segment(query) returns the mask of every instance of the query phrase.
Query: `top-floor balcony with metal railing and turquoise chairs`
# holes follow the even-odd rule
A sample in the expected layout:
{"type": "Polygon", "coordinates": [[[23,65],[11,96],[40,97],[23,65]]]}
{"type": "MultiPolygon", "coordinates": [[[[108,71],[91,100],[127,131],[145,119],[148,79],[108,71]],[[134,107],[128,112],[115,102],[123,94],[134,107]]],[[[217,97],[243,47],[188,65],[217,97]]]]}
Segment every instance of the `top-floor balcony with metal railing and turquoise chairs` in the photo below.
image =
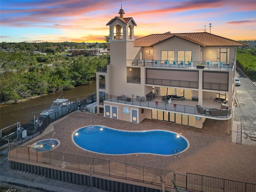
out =
{"type": "Polygon", "coordinates": [[[182,69],[233,70],[233,62],[216,61],[163,61],[163,60],[126,60],[126,66],[165,67],[182,69]]]}

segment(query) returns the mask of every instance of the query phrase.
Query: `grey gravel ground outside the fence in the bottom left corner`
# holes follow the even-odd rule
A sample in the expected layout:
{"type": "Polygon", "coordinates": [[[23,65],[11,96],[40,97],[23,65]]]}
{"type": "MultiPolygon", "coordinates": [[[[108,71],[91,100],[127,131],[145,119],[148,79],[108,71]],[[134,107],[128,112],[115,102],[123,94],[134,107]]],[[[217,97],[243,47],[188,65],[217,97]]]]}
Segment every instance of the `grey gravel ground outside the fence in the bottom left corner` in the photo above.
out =
{"type": "MultiPolygon", "coordinates": [[[[37,182],[40,184],[45,184],[48,186],[53,186],[53,187],[58,187],[58,188],[63,188],[63,189],[74,190],[77,192],[107,192],[105,190],[101,190],[98,188],[90,188],[88,186],[72,184],[72,183],[68,183],[68,182],[45,178],[42,176],[37,176],[34,174],[28,174],[28,173],[21,172],[21,171],[11,170],[10,162],[7,160],[6,156],[2,156],[2,155],[0,157],[0,176],[6,176],[6,177],[10,177],[10,178],[17,178],[17,179],[22,179],[22,180],[26,180],[26,181],[37,182]]],[[[40,192],[40,191],[54,192],[54,190],[31,189],[31,188],[29,188],[29,186],[25,186],[25,187],[24,186],[16,186],[16,185],[2,182],[2,180],[1,180],[0,192],[7,191],[8,189],[16,189],[16,190],[18,190],[18,192],[40,192]]]]}

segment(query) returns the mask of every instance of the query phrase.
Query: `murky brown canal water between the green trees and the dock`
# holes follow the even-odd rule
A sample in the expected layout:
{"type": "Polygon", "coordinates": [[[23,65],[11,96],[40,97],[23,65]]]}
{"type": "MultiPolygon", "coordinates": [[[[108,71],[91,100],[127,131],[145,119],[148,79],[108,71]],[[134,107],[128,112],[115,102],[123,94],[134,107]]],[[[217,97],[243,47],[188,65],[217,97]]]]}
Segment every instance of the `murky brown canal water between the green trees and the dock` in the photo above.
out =
{"type": "MultiPolygon", "coordinates": [[[[41,96],[13,104],[0,105],[0,129],[6,128],[12,124],[20,122],[22,125],[34,125],[35,118],[42,118],[40,113],[52,106],[52,102],[59,98],[69,99],[69,101],[77,102],[79,99],[84,99],[91,94],[96,93],[96,81],[90,85],[78,86],[72,90],[64,92],[52,93],[46,96],[41,96]]],[[[10,132],[10,130],[2,132],[10,132]]]]}

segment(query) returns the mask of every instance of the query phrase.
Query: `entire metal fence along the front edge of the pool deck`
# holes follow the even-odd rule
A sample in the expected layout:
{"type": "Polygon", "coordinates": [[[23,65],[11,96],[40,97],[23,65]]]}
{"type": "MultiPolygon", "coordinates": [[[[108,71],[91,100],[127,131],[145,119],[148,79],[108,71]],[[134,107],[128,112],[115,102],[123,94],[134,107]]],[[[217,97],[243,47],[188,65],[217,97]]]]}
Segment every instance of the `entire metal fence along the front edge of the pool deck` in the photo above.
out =
{"type": "MultiPolygon", "coordinates": [[[[187,173],[186,175],[175,174],[173,170],[42,150],[16,144],[9,144],[8,157],[67,168],[65,171],[68,171],[68,169],[81,170],[116,178],[156,184],[158,186],[161,184],[159,178],[163,176],[165,186],[173,187],[172,180],[174,180],[176,185],[180,188],[199,192],[256,191],[256,184],[252,183],[192,173],[187,173]]],[[[29,164],[29,162],[27,164],[29,164]]]]}

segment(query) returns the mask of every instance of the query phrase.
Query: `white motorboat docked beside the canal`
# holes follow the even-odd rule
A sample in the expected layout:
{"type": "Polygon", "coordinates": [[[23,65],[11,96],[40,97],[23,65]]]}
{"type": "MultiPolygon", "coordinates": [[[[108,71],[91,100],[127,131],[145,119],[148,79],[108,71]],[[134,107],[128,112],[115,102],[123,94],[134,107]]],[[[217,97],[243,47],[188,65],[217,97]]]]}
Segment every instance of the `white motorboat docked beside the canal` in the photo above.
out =
{"type": "Polygon", "coordinates": [[[40,113],[43,118],[49,116],[51,119],[56,120],[61,116],[68,114],[75,108],[75,102],[69,102],[68,99],[56,99],[50,109],[46,109],[40,113]]]}

